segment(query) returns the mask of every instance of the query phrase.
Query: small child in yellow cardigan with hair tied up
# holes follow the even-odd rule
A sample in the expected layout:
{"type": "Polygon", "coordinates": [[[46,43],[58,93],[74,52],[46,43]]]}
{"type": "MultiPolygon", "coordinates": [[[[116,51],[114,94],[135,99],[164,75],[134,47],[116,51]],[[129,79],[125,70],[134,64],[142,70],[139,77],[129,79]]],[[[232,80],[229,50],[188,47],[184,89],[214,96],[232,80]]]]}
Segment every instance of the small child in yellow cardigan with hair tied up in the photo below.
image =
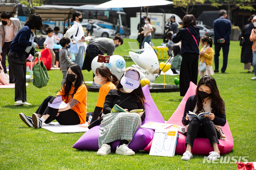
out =
{"type": "Polygon", "coordinates": [[[212,49],[213,45],[213,40],[204,35],[200,39],[200,44],[203,47],[200,50],[200,56],[199,56],[199,65],[201,65],[203,62],[206,63],[206,69],[204,71],[199,71],[198,69],[198,75],[200,75],[200,78],[204,77],[205,75],[214,75],[213,68],[212,68],[212,63],[213,63],[213,55],[214,51],[212,49]]]}

